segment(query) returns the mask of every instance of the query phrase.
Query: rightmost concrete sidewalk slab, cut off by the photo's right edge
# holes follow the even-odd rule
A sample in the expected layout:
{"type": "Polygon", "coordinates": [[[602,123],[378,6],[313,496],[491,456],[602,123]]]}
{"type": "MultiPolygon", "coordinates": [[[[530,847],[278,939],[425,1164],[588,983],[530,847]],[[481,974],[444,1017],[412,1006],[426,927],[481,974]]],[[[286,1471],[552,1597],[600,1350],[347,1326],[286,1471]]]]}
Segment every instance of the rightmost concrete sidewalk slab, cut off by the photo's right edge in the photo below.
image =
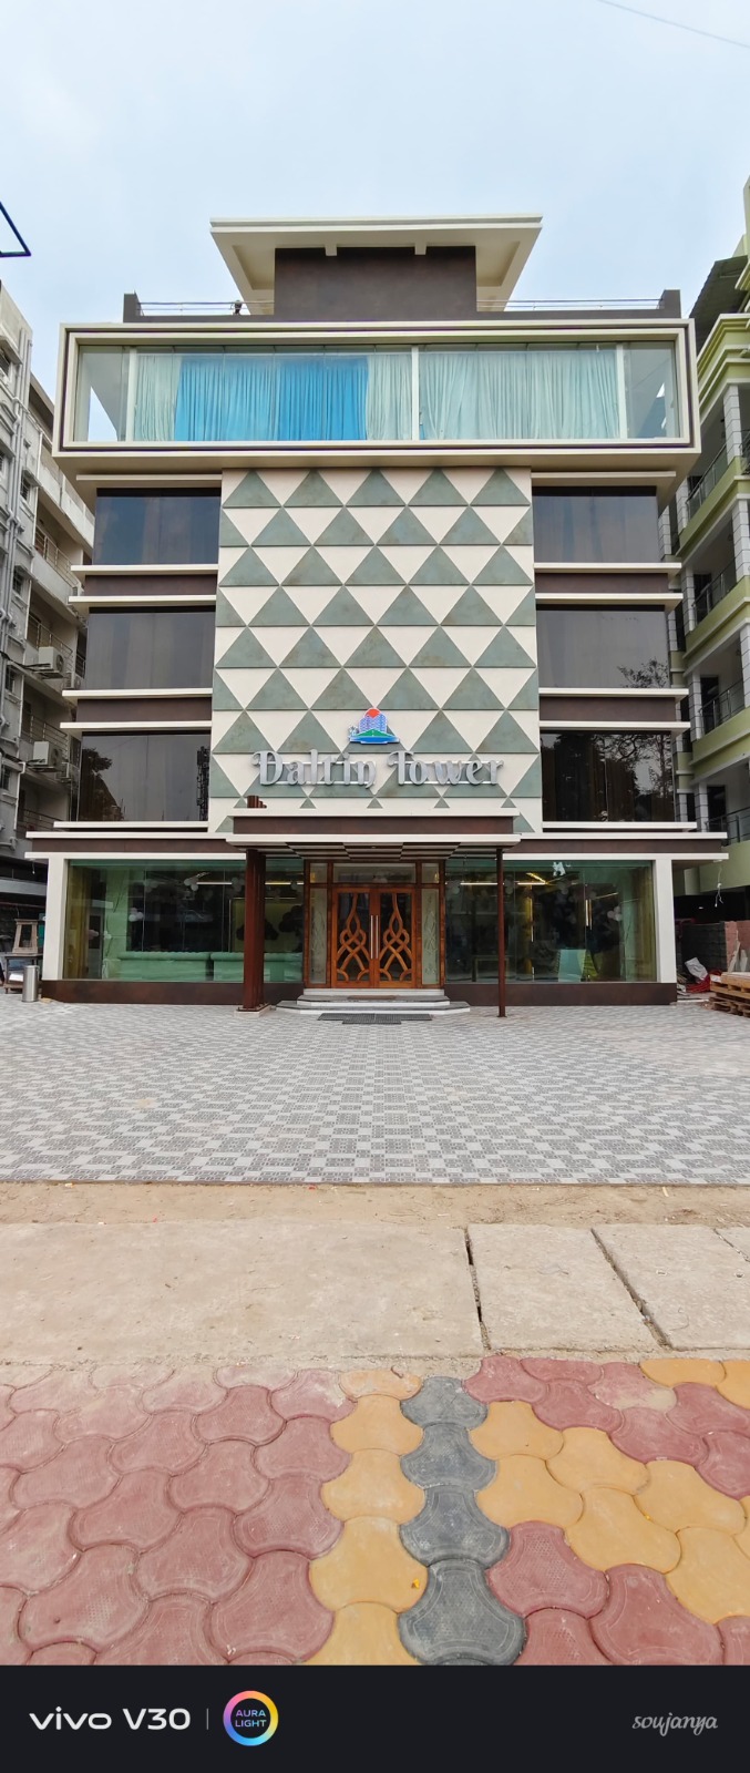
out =
{"type": "Polygon", "coordinates": [[[750,1262],[718,1232],[603,1225],[598,1236],[670,1347],[750,1347],[750,1262]]]}

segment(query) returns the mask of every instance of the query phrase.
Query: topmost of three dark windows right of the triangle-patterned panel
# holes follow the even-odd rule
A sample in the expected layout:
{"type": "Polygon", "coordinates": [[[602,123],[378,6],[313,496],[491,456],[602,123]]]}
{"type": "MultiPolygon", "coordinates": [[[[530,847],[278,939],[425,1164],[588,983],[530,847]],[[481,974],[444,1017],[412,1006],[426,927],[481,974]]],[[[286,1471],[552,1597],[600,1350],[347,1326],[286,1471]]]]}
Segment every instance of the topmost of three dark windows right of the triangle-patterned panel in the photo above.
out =
{"type": "Polygon", "coordinates": [[[642,488],[544,488],[534,493],[535,560],[660,558],[656,493],[642,488]]]}

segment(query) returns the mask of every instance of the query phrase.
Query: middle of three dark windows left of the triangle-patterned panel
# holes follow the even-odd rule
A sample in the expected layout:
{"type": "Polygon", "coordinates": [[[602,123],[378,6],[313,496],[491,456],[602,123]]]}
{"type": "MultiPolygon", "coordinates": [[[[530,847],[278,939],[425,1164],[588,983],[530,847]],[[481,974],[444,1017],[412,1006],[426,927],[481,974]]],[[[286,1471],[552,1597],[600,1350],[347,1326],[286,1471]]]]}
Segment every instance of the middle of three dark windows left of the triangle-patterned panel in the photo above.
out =
{"type": "Polygon", "coordinates": [[[85,686],[211,688],[213,635],[213,610],[92,610],[85,686]]]}

